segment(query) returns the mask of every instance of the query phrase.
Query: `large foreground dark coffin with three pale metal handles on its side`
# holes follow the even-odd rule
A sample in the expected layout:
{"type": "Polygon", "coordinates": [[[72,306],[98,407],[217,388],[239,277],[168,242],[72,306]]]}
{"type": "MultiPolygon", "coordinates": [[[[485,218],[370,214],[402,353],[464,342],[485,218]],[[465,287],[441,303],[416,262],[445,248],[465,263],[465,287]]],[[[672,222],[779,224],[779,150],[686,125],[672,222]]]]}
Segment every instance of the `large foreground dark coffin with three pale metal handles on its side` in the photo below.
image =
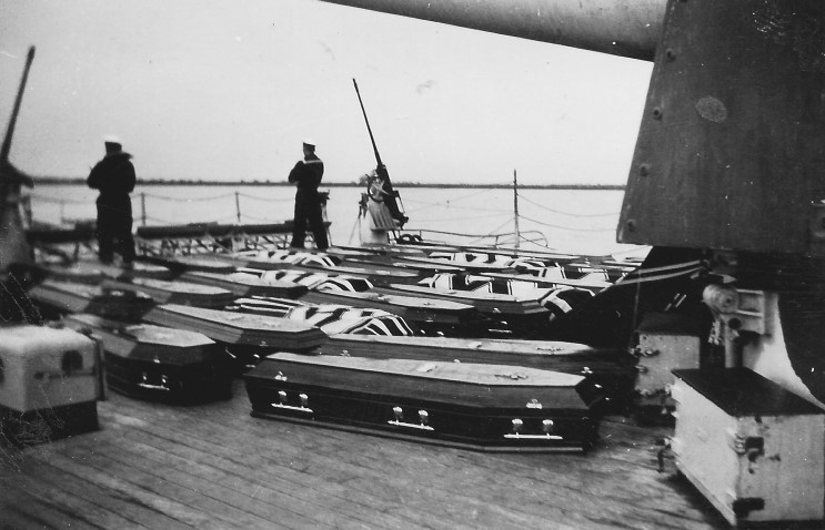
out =
{"type": "Polygon", "coordinates": [[[586,450],[583,377],[503,365],[273,354],[244,375],[255,417],[490,451],[586,450]]]}

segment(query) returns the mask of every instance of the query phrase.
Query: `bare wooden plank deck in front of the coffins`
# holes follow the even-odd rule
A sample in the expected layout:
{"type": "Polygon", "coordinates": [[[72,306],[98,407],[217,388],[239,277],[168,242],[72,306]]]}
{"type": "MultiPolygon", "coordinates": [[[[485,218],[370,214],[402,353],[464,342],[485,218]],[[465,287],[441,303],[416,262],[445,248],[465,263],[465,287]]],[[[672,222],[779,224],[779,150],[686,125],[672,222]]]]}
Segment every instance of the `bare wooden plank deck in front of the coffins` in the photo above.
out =
{"type": "Polygon", "coordinates": [[[605,418],[587,453],[491,453],[114,393],[100,429],[0,442],[2,529],[716,529],[664,460],[666,426],[605,418]]]}

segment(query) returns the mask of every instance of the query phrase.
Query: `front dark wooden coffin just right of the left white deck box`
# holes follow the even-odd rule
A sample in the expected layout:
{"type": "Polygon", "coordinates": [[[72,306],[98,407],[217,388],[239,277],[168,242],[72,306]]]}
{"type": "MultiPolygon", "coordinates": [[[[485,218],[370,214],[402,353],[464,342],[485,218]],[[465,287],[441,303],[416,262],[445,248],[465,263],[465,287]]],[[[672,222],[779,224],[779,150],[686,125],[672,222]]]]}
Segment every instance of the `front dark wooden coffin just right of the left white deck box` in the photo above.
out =
{"type": "Polygon", "coordinates": [[[120,394],[168,402],[203,402],[232,395],[229,358],[205,335],[83,314],[70,315],[63,323],[100,340],[107,383],[120,394]]]}

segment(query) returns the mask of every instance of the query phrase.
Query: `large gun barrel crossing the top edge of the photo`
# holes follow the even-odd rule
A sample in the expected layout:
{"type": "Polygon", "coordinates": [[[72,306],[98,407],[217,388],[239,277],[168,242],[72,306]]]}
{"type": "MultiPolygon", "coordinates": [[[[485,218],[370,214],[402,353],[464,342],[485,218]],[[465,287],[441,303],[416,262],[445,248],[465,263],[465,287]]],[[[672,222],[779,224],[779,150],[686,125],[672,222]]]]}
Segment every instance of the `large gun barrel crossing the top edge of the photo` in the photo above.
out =
{"type": "Polygon", "coordinates": [[[652,61],[666,0],[324,0],[652,61]]]}

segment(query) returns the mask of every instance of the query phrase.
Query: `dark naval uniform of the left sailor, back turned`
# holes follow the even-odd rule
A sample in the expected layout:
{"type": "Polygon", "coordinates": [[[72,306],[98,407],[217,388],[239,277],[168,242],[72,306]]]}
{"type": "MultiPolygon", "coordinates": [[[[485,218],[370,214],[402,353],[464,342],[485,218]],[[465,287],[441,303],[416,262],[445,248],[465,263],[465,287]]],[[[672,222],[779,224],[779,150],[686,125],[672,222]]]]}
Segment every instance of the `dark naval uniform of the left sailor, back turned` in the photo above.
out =
{"type": "Polygon", "coordinates": [[[134,190],[134,165],[132,155],[119,151],[107,154],[89,173],[87,184],[99,190],[98,196],[98,257],[102,263],[111,263],[114,257],[115,241],[120,246],[123,263],[134,259],[134,238],[132,237],[132,201],[129,194],[134,190]]]}

